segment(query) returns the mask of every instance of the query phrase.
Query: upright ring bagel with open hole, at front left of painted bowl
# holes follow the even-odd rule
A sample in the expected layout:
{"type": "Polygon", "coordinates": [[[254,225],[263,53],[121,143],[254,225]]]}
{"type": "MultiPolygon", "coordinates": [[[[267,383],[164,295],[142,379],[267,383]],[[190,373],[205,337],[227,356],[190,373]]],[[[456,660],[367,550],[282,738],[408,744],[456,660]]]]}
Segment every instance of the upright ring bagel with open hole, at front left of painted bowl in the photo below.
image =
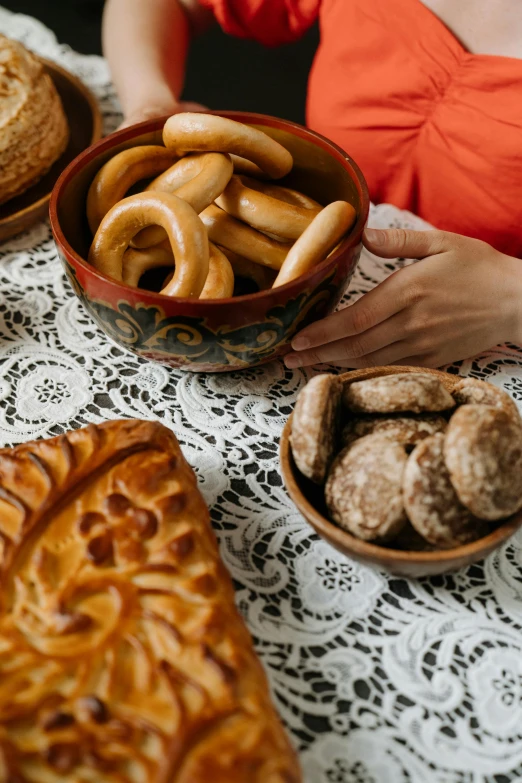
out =
{"type": "Polygon", "coordinates": [[[208,236],[192,207],[172,193],[137,193],[112,207],[96,232],[89,263],[114,280],[122,280],[129,242],[150,225],[165,229],[176,259],[170,295],[198,297],[208,275],[208,236]]]}

